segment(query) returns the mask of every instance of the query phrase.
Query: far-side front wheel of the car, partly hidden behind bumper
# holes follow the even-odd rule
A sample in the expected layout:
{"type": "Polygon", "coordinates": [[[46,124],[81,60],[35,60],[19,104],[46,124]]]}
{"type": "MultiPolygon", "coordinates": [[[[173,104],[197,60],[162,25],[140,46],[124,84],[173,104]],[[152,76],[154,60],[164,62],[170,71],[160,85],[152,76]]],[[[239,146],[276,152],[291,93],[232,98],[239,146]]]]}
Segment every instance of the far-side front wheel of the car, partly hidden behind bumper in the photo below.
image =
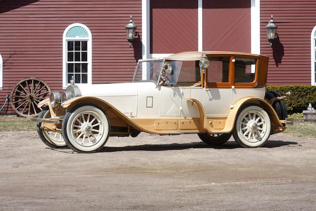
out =
{"type": "MultiPolygon", "coordinates": [[[[40,112],[39,118],[40,119],[47,119],[50,118],[50,112],[47,109],[44,109],[40,112]]],[[[42,130],[40,128],[41,123],[37,124],[38,133],[40,135],[40,139],[49,147],[52,148],[59,148],[66,146],[66,142],[60,132],[53,132],[42,130]]]]}

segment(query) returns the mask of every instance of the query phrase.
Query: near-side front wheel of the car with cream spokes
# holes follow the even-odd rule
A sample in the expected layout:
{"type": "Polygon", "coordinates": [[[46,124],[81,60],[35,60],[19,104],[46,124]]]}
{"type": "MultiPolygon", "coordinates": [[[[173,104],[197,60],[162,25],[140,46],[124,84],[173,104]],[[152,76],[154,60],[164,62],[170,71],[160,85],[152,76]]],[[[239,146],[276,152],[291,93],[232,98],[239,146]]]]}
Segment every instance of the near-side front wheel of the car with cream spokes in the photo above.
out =
{"type": "Polygon", "coordinates": [[[108,116],[92,105],[78,105],[66,113],[63,137],[67,146],[79,153],[100,150],[110,135],[108,116]]]}

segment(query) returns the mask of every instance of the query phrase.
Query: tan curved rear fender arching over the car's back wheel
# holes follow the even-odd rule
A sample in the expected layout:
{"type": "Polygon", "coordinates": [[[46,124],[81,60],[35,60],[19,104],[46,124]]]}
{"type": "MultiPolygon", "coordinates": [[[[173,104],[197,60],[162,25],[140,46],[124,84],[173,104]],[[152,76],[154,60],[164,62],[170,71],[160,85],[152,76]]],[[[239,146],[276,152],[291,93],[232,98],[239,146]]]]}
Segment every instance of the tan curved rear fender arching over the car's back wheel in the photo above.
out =
{"type": "Polygon", "coordinates": [[[233,130],[238,112],[247,105],[258,105],[269,114],[273,126],[271,134],[282,132],[283,130],[285,130],[286,127],[283,127],[282,123],[277,117],[276,111],[267,101],[256,97],[245,97],[238,100],[234,104],[234,107],[228,113],[226,125],[223,131],[231,132],[233,130]]]}

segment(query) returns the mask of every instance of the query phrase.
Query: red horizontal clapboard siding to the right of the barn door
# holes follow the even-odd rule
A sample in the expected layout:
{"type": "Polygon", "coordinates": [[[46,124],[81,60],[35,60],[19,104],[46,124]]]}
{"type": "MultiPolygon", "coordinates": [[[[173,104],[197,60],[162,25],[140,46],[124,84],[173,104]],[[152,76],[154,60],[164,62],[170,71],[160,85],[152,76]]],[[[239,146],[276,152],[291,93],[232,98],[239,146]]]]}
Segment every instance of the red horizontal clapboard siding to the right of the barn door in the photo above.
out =
{"type": "Polygon", "coordinates": [[[261,0],[261,54],[270,57],[268,84],[311,84],[311,33],[315,0],[261,0]],[[270,47],[265,26],[273,15],[278,39],[270,47]]]}

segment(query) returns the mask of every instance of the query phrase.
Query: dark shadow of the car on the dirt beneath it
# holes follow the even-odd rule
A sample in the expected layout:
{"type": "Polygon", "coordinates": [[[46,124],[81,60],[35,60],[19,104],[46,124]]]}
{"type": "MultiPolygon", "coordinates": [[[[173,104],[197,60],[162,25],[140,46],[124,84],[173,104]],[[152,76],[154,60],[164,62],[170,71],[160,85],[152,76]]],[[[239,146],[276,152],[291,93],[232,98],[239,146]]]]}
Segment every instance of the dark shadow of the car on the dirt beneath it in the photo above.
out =
{"type": "MultiPolygon", "coordinates": [[[[297,142],[292,141],[268,141],[263,148],[275,148],[281,146],[291,146],[291,145],[298,145],[297,142]]],[[[120,152],[120,151],[166,151],[166,150],[184,150],[184,149],[198,149],[198,148],[213,148],[213,149],[236,149],[242,148],[237,144],[235,141],[228,141],[227,143],[216,146],[216,145],[207,145],[203,142],[191,142],[191,143],[172,143],[172,144],[143,144],[143,145],[136,145],[136,146],[123,146],[123,147],[103,147],[100,152],[120,152]]],[[[75,153],[73,151],[64,151],[61,149],[54,149],[48,148],[54,151],[65,152],[65,153],[75,153]]]]}

